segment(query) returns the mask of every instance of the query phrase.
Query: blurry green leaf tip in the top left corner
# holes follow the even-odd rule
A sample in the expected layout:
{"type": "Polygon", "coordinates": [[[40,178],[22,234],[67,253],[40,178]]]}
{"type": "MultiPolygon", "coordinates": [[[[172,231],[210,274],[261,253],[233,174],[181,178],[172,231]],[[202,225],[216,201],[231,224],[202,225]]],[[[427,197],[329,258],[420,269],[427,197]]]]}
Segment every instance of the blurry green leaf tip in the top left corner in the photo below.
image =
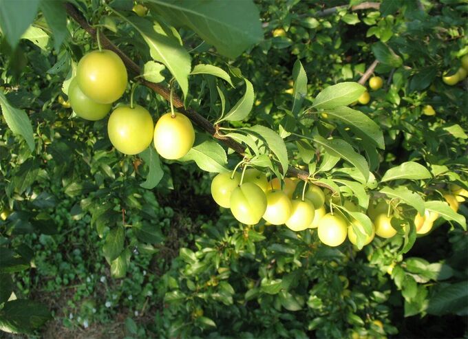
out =
{"type": "Polygon", "coordinates": [[[36,17],[38,8],[39,0],[0,1],[0,27],[12,50],[36,17]]]}

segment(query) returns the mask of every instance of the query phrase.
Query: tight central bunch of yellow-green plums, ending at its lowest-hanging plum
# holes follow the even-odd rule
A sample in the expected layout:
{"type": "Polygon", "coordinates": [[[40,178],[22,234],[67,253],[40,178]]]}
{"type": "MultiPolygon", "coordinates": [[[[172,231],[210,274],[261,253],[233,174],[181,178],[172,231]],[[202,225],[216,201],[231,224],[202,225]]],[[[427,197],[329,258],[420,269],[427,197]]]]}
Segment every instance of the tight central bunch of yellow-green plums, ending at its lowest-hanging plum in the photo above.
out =
{"type": "Polygon", "coordinates": [[[293,198],[297,180],[284,179],[284,187],[274,178],[255,168],[244,173],[220,173],[211,182],[211,195],[216,203],[231,208],[235,219],[254,225],[264,219],[271,225],[283,225],[294,231],[318,228],[323,243],[337,246],[348,234],[346,221],[337,213],[326,213],[325,194],[314,184],[304,191],[303,197],[293,198]]]}

